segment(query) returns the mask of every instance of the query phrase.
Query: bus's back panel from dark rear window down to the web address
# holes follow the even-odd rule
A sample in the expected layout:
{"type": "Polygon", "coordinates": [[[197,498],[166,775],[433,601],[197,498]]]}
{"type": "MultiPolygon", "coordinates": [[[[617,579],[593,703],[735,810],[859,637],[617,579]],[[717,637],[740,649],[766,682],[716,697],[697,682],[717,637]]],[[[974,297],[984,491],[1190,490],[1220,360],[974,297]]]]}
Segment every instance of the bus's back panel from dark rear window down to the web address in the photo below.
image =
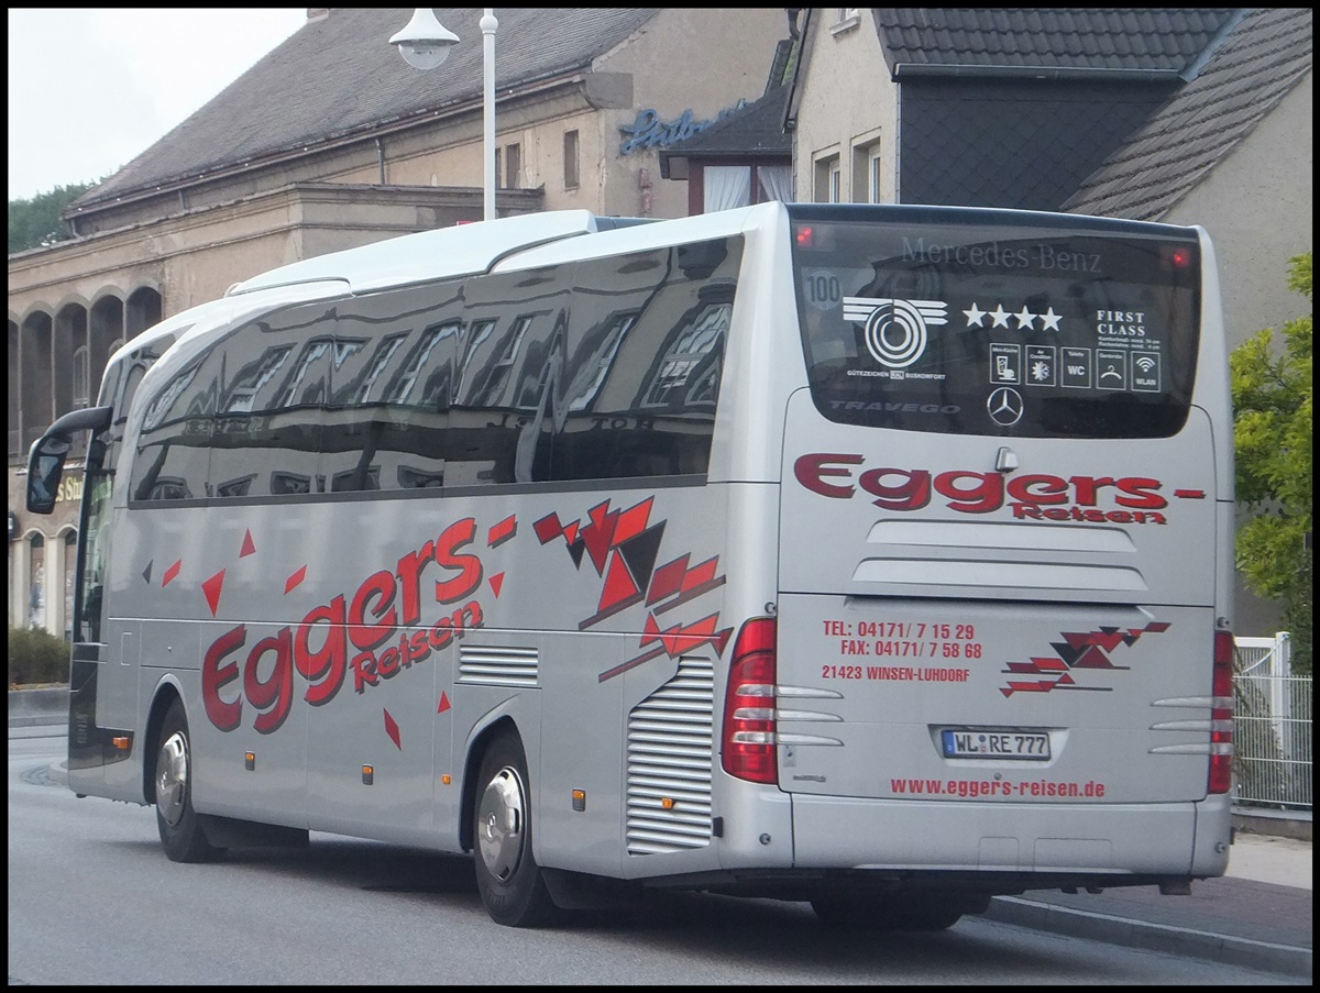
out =
{"type": "Polygon", "coordinates": [[[1197,242],[958,214],[795,218],[809,386],[787,411],[779,683],[824,691],[803,730],[837,743],[781,747],[780,786],[1200,800],[1197,242]]]}

